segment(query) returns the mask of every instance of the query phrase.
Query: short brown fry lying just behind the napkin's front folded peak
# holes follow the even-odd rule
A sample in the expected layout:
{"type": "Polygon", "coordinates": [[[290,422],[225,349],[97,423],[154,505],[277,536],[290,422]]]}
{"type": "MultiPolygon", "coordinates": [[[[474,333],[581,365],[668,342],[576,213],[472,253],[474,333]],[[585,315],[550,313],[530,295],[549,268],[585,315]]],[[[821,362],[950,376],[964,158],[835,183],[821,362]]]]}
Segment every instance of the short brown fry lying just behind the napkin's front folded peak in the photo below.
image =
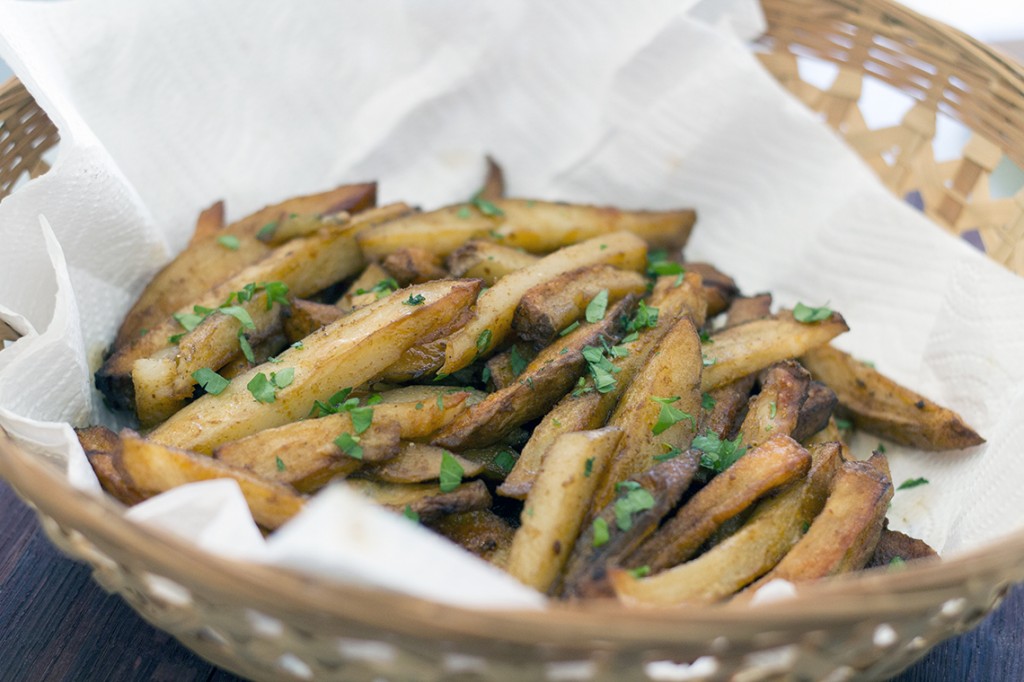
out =
{"type": "Polygon", "coordinates": [[[436,483],[384,483],[346,478],[344,484],[397,512],[409,509],[424,523],[449,514],[482,511],[490,507],[490,493],[482,480],[461,483],[451,493],[441,493],[436,483]]]}

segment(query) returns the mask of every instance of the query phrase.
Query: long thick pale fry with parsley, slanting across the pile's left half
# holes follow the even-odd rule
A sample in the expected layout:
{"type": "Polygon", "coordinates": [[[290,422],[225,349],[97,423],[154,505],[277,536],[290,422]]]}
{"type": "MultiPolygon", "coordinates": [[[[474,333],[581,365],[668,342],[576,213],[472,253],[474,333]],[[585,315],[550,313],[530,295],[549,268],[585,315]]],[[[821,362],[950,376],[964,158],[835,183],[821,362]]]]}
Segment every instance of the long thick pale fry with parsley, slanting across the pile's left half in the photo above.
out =
{"type": "Polygon", "coordinates": [[[370,381],[393,365],[419,339],[465,310],[478,289],[478,282],[457,280],[395,292],[316,331],[301,348],[283,352],[279,363],[232,379],[219,395],[207,393],[150,437],[210,453],[225,442],[305,417],[315,400],[327,401],[342,388],[370,381]],[[422,297],[422,302],[409,305],[410,296],[422,297]],[[289,369],[291,383],[272,385],[270,374],[281,376],[289,369]],[[257,400],[257,394],[265,401],[257,400]]]}

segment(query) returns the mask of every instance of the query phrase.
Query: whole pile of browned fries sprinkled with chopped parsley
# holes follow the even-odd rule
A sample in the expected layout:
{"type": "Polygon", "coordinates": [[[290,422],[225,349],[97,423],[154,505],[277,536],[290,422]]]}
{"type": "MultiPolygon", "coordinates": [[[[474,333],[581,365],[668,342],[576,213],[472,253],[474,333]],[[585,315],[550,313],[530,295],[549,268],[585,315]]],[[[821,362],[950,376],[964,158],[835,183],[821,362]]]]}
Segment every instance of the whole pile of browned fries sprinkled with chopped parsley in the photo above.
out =
{"type": "Polygon", "coordinates": [[[224,224],[129,311],[96,384],[143,435],[79,438],[127,505],[239,482],[267,531],[345,484],[556,597],[671,605],[934,556],[886,527],[883,452],[982,442],[685,262],[692,210],[504,199],[376,205],[345,185],[224,224]]]}

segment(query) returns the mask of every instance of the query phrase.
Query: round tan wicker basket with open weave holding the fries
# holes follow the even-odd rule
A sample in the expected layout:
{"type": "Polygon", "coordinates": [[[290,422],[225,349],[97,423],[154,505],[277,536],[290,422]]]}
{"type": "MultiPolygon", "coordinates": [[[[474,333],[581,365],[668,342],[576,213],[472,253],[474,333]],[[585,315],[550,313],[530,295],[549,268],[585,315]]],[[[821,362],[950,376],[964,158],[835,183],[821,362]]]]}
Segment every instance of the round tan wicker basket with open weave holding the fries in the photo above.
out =
{"type": "MultiPolygon", "coordinates": [[[[936,223],[970,232],[1024,272],[1024,191],[992,199],[1004,157],[1024,165],[1024,70],[888,0],[763,0],[769,70],[821,115],[899,196],[918,193],[936,223]],[[798,57],[835,62],[827,90],[798,57]],[[869,130],[865,77],[916,104],[869,130]],[[963,158],[937,163],[936,112],[973,131],[963,158]],[[976,231],[975,231],[976,230],[976,231]]],[[[0,190],[38,173],[56,131],[16,82],[0,91],[0,190]]],[[[0,326],[0,337],[11,330],[0,326]]],[[[344,587],[206,554],[126,522],[121,508],[71,489],[59,472],[0,432],[0,473],[50,538],[147,621],[210,660],[282,679],[877,679],[976,625],[1024,581],[1024,532],[905,572],[810,588],[770,610],[731,606],[641,612],[611,604],[545,612],[470,611],[344,587]],[[677,662],[677,663],[667,663],[677,662]]]]}

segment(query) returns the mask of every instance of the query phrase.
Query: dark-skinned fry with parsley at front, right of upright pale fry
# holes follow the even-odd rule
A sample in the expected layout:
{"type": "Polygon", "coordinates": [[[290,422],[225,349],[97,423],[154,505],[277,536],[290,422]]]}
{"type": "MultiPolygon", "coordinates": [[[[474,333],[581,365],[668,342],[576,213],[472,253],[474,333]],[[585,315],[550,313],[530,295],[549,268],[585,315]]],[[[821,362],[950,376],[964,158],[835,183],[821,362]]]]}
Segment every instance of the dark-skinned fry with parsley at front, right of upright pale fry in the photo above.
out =
{"type": "Polygon", "coordinates": [[[679,504],[699,463],[699,454],[687,451],[634,476],[631,480],[650,493],[653,506],[633,514],[627,528],[616,521],[615,502],[602,509],[596,518],[603,520],[608,540],[597,547],[594,546],[594,524],[584,526],[565,565],[559,590],[561,595],[580,599],[613,596],[607,581],[608,567],[621,565],[654,532],[662,519],[679,504]]]}

